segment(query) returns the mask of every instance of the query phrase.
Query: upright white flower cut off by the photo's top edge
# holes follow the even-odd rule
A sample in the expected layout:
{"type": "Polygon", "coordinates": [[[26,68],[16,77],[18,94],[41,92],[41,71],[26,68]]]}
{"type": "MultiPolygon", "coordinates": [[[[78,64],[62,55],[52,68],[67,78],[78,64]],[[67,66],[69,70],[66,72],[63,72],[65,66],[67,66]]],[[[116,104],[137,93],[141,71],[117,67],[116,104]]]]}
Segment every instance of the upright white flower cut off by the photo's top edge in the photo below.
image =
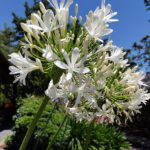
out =
{"type": "Polygon", "coordinates": [[[61,0],[60,6],[58,6],[57,0],[52,0],[51,4],[56,10],[56,15],[58,16],[59,23],[64,26],[67,24],[68,20],[68,9],[70,5],[73,3],[73,0],[68,0],[66,5],[64,5],[65,0],[61,0]]]}

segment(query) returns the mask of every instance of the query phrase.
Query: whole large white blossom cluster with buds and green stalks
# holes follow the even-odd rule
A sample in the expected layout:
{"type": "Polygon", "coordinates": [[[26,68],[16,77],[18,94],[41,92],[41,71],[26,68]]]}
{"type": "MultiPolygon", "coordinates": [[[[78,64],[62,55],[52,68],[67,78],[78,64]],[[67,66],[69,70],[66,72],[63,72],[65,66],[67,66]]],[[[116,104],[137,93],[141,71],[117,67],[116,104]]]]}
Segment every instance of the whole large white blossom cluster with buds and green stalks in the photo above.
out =
{"type": "Polygon", "coordinates": [[[117,21],[112,19],[117,13],[102,0],[101,8],[90,11],[82,25],[76,4],[68,26],[72,3],[51,0],[53,12],[40,2],[40,11],[21,23],[26,32],[20,43],[22,54],[12,53],[9,59],[15,82],[25,84],[27,74],[40,69],[51,75],[45,94],[78,121],[120,123],[120,116],[131,120],[150,95],[143,88],[144,73],[128,67],[126,53],[112,41],[104,44],[103,36],[113,31],[108,23],[117,21]]]}

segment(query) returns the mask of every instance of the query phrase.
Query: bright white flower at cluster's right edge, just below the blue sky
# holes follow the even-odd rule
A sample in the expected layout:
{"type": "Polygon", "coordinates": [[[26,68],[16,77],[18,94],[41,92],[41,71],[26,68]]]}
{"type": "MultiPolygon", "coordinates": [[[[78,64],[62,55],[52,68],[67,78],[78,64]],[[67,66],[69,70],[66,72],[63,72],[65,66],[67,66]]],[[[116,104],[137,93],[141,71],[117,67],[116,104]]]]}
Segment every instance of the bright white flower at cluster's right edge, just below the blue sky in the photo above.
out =
{"type": "Polygon", "coordinates": [[[127,59],[124,59],[126,52],[123,52],[121,48],[115,48],[112,50],[109,60],[113,61],[115,64],[119,64],[120,67],[127,66],[127,59]]]}

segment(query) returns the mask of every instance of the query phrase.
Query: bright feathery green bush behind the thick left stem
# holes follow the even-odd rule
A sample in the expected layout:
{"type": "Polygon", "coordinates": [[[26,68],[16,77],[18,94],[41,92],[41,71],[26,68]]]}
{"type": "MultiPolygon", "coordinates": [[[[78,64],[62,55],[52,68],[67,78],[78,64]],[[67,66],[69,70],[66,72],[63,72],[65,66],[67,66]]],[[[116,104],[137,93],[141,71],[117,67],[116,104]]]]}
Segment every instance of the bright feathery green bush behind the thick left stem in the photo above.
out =
{"type": "MultiPolygon", "coordinates": [[[[8,148],[10,150],[19,149],[27,128],[40,107],[41,101],[42,98],[37,97],[28,97],[22,101],[23,106],[17,110],[17,114],[13,117],[13,120],[15,121],[13,130],[15,132],[7,140],[8,148]]],[[[64,114],[59,112],[56,107],[56,105],[54,106],[52,104],[47,105],[42,117],[37,123],[37,127],[30,140],[28,150],[41,150],[46,148],[49,142],[49,137],[52,138],[64,118],[64,114]]],[[[69,126],[67,126],[67,129],[69,129],[69,126]]],[[[62,128],[59,136],[57,137],[56,140],[58,142],[55,147],[61,147],[64,139],[68,137],[69,133],[64,132],[64,130],[65,127],[62,128]]]]}

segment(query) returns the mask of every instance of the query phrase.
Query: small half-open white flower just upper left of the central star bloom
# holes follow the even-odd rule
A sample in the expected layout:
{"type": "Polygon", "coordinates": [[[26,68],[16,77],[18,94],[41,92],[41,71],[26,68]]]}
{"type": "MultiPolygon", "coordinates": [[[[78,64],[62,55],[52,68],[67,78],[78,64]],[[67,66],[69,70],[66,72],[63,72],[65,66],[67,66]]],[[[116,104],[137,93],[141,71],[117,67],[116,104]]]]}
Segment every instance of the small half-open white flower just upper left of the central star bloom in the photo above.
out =
{"type": "Polygon", "coordinates": [[[49,44],[46,46],[46,49],[42,49],[42,51],[44,52],[42,56],[49,61],[54,61],[59,58],[55,53],[53,53],[49,44]]]}

